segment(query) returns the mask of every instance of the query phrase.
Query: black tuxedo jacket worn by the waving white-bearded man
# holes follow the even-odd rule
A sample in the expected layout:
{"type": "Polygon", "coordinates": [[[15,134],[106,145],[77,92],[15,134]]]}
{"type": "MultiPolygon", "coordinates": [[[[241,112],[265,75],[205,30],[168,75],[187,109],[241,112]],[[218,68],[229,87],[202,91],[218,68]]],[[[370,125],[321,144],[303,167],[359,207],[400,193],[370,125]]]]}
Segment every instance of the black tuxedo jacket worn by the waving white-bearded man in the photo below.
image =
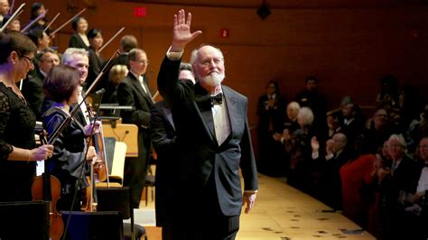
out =
{"type": "Polygon", "coordinates": [[[198,83],[193,86],[190,81],[178,81],[179,67],[180,60],[165,58],[157,84],[161,95],[172,106],[177,130],[180,148],[178,181],[181,184],[180,194],[185,194],[181,204],[195,211],[220,208],[225,216],[237,216],[242,207],[239,167],[245,189],[258,188],[256,161],[247,122],[247,97],[231,88],[222,87],[231,133],[219,145],[214,132],[209,93],[198,83]],[[207,198],[203,197],[207,191],[211,193],[209,200],[217,202],[219,207],[204,205],[207,198]]]}

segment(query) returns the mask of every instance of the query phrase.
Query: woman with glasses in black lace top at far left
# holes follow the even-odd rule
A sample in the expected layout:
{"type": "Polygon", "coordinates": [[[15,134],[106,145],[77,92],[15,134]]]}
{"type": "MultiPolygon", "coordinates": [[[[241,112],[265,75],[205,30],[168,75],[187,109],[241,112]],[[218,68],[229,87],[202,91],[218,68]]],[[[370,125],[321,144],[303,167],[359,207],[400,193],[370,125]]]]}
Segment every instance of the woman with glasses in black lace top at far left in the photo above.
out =
{"type": "Polygon", "coordinates": [[[34,68],[34,43],[21,32],[0,33],[0,202],[32,200],[36,161],[53,146],[36,148],[35,115],[16,82],[34,68]]]}

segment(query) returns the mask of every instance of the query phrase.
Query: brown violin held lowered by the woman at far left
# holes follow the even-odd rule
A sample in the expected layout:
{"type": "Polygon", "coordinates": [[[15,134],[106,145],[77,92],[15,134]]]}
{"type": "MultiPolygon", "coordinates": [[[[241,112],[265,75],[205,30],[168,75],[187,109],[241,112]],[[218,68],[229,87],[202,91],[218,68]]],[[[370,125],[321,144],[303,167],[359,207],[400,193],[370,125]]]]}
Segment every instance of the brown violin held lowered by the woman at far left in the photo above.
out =
{"type": "MultiPolygon", "coordinates": [[[[42,144],[48,143],[44,133],[40,133],[40,139],[42,144]]],[[[64,232],[64,223],[56,208],[60,189],[60,180],[51,176],[49,160],[45,160],[44,173],[33,180],[32,195],[33,201],[43,200],[49,203],[49,236],[52,240],[60,240],[64,232]]]]}

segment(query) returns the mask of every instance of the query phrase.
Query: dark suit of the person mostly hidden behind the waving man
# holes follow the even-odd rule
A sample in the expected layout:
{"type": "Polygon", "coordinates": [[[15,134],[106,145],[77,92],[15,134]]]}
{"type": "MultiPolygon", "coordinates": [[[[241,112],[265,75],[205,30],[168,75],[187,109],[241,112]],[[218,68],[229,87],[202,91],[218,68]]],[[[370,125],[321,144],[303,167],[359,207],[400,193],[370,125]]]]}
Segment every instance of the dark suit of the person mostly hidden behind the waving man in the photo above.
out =
{"type": "Polygon", "coordinates": [[[150,135],[157,153],[154,198],[156,226],[163,226],[163,222],[167,220],[165,217],[171,216],[173,210],[168,201],[173,198],[172,179],[178,167],[175,126],[170,107],[165,101],[152,106],[150,135]]]}

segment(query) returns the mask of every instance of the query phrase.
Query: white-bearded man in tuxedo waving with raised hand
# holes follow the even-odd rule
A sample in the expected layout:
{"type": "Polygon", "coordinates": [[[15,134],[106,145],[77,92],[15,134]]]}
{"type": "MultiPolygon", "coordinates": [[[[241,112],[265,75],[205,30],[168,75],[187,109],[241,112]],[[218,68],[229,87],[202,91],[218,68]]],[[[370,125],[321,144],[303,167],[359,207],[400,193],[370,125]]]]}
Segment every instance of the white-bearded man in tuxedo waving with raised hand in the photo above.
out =
{"type": "Polygon", "coordinates": [[[161,95],[172,107],[178,167],[172,176],[177,194],[173,239],[235,239],[243,204],[246,213],[256,200],[257,171],[247,122],[247,97],[222,85],[222,52],[205,45],[191,54],[197,83],[179,81],[185,46],[200,35],[191,33],[191,14],[174,15],[172,46],[158,75],[161,95]],[[244,178],[241,189],[239,168],[244,178]]]}

